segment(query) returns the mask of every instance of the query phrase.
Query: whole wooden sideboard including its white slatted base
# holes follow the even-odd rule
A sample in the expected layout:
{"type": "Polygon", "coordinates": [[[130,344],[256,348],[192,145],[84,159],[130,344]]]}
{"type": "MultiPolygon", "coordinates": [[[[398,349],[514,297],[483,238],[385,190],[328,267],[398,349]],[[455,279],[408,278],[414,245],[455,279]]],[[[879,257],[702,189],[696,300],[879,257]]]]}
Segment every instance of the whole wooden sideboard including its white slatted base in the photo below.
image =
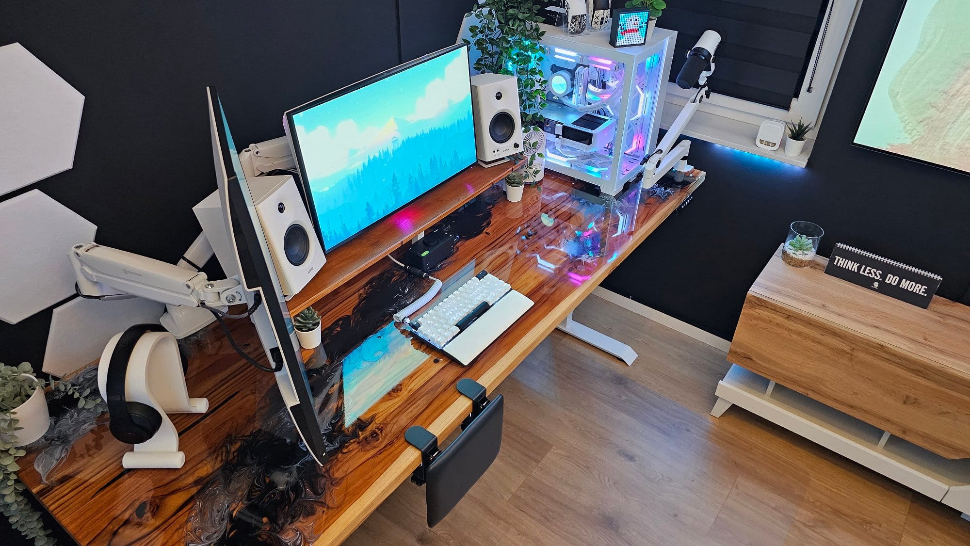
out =
{"type": "Polygon", "coordinates": [[[771,257],[712,414],[737,404],[970,512],[970,307],[927,309],[771,257]],[[949,501],[948,501],[949,498],[949,501]]]}

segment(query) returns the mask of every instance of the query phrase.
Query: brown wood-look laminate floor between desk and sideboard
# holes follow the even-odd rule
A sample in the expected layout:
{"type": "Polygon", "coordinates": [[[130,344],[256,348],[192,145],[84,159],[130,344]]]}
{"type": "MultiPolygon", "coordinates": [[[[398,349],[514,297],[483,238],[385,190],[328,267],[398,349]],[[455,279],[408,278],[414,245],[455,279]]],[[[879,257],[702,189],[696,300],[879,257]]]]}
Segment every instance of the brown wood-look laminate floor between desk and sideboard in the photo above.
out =
{"type": "Polygon", "coordinates": [[[725,353],[595,296],[575,318],[628,368],[560,332],[502,384],[499,459],[434,530],[404,483],[346,544],[966,546],[942,504],[732,407],[725,353]]]}

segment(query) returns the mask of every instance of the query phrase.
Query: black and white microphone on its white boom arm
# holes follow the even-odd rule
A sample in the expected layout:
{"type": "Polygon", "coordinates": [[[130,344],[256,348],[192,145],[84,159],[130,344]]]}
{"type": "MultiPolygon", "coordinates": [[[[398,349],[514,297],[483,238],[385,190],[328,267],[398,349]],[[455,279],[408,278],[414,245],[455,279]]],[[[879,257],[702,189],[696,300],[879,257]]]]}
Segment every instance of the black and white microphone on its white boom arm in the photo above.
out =
{"type": "Polygon", "coordinates": [[[694,97],[677,115],[677,119],[670,124],[663,141],[657,149],[643,160],[646,166],[643,171],[643,187],[648,188],[663,178],[675,166],[678,170],[687,170],[687,156],[691,152],[691,141],[683,140],[674,146],[680,138],[687,124],[691,122],[697,108],[704,99],[711,96],[707,86],[707,78],[714,74],[714,52],[721,43],[721,35],[713,30],[706,30],[697,40],[697,44],[687,53],[687,62],[677,76],[677,84],[684,89],[697,87],[694,97]]]}

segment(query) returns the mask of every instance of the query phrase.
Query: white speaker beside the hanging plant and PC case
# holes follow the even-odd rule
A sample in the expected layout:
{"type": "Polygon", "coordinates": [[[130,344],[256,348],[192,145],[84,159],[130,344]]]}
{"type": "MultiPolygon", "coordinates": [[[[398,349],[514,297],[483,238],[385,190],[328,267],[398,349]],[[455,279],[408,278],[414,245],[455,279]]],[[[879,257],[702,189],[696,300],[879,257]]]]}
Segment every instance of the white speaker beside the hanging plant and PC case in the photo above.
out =
{"type": "Polygon", "coordinates": [[[475,119],[478,164],[492,167],[522,151],[519,86],[514,76],[471,77],[471,111],[475,119]]]}

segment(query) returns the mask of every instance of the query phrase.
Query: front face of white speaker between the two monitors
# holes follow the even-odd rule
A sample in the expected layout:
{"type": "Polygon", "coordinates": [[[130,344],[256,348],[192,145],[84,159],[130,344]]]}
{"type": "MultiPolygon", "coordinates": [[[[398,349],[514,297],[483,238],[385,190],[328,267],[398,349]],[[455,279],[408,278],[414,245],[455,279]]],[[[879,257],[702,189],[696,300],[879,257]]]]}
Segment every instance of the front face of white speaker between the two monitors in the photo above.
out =
{"type": "Polygon", "coordinates": [[[247,177],[256,214],[287,300],[327,263],[293,177],[247,177]]]}

